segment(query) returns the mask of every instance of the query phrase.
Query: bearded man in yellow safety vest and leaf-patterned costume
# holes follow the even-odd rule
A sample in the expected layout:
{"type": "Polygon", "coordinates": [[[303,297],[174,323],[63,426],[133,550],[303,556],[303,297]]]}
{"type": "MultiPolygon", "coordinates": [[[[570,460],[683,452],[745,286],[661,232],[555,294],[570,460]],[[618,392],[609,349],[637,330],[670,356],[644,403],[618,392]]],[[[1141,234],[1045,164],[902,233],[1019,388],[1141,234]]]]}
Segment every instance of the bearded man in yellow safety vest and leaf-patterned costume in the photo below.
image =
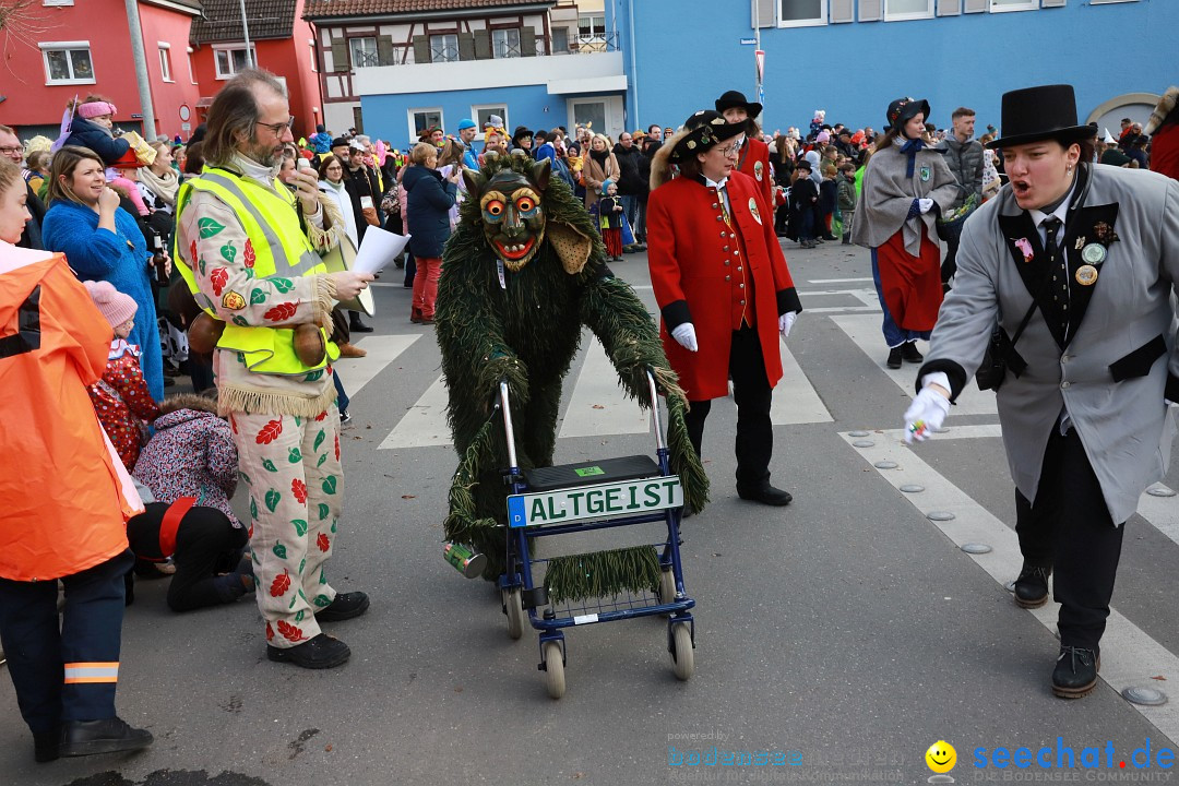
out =
{"type": "Polygon", "coordinates": [[[309,225],[324,229],[315,177],[296,172],[294,194],[277,179],[292,120],[272,74],[248,70],[226,82],[209,110],[206,169],[177,200],[176,262],[197,303],[223,323],[218,408],[250,493],[266,654],[330,668],[350,650],[320,622],[358,616],[369,600],[336,593],[324,570],[343,495],[338,349],[327,330],[334,303],[373,276],[327,272],[308,239],[309,225]],[[317,344],[310,352],[308,339],[317,344]]]}

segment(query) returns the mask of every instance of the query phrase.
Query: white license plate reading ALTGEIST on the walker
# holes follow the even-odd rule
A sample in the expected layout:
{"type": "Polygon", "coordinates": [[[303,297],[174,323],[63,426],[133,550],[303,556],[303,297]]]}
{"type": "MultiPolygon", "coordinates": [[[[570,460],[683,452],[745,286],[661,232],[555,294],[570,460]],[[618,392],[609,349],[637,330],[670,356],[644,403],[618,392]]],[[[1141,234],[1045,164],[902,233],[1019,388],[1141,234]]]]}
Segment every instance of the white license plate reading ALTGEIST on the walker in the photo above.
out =
{"type": "Polygon", "coordinates": [[[684,488],[674,475],[556,491],[513,494],[508,497],[508,527],[539,527],[585,519],[632,516],[683,504],[684,488]]]}

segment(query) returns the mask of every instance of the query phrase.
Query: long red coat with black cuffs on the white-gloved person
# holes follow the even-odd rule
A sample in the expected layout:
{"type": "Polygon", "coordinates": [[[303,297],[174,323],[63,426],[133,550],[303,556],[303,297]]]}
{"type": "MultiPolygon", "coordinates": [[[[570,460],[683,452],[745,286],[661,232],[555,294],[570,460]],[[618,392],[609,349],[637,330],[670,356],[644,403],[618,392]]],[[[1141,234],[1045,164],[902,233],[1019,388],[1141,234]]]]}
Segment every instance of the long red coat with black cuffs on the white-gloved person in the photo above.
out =
{"type": "Polygon", "coordinates": [[[699,180],[676,178],[647,202],[647,264],[663,316],[660,336],[690,401],[727,395],[729,350],[744,309],[751,309],[745,321],[757,328],[773,387],[782,378],[778,316],[802,310],[773,232],[773,209],[757,181],[733,172],[726,190],[736,232],[724,220],[717,191],[699,180]],[[685,322],[696,326],[699,351],[671,337],[685,322]]]}

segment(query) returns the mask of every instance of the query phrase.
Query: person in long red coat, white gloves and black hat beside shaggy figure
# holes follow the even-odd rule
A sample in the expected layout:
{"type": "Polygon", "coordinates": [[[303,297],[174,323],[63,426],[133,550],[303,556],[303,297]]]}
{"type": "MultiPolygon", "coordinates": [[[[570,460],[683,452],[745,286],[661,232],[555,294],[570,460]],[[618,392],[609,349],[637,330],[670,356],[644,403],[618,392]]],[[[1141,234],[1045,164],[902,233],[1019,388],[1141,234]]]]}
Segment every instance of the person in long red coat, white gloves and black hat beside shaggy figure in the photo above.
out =
{"type": "Polygon", "coordinates": [[[773,207],[736,171],[744,124],[710,110],[656,153],[647,203],[647,264],[663,316],[664,350],[691,402],[687,429],[700,453],[711,399],[737,403],[737,494],[772,506],[770,399],[782,378],[778,333],[802,311],[773,232],[773,207]],[[679,177],[670,179],[672,165],[679,177]]]}

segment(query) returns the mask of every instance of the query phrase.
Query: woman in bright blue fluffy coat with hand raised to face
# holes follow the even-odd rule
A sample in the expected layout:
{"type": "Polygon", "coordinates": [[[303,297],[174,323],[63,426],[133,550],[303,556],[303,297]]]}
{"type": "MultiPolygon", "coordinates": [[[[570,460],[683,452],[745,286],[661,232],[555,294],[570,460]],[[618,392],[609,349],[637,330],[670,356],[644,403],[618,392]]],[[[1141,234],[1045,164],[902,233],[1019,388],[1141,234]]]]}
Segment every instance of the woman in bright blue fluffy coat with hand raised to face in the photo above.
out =
{"type": "Polygon", "coordinates": [[[139,362],[152,397],[164,401],[156,300],[147,277],[151,255],[139,224],[121,207],[114,209],[114,231],[99,226],[95,189],[103,180],[103,172],[97,157],[91,158],[88,152],[62,147],[54,157],[51,205],[41,226],[45,247],[65,253],[79,278],[110,282],[114,289],[134,298],[139,309],[127,341],[139,345],[139,362]],[[97,172],[90,172],[94,165],[98,165],[97,172]],[[86,178],[94,180],[93,189],[86,178]]]}

